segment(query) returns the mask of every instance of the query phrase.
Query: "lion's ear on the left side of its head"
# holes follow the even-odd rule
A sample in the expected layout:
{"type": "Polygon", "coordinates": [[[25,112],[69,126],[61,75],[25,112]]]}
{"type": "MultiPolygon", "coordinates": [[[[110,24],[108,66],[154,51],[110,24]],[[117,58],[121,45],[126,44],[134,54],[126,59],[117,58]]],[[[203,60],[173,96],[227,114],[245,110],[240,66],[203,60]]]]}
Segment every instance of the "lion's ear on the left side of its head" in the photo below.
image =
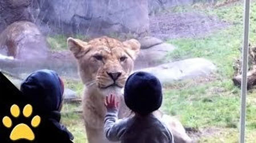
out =
{"type": "Polygon", "coordinates": [[[71,37],[69,37],[67,41],[68,49],[72,51],[73,55],[77,59],[88,53],[88,51],[90,50],[90,46],[87,44],[87,42],[71,37]]]}

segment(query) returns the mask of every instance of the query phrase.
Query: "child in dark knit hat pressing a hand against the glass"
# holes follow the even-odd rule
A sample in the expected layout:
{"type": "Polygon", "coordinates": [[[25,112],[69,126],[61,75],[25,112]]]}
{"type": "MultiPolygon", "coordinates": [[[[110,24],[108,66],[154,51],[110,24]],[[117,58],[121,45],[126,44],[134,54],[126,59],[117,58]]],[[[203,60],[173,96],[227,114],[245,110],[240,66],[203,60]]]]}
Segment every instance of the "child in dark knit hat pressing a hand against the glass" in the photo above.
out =
{"type": "Polygon", "coordinates": [[[104,133],[109,141],[174,142],[172,133],[152,114],[162,105],[162,86],[155,76],[147,72],[133,73],[126,81],[124,97],[135,115],[122,120],[117,118],[119,103],[115,97],[106,97],[104,133]]]}

